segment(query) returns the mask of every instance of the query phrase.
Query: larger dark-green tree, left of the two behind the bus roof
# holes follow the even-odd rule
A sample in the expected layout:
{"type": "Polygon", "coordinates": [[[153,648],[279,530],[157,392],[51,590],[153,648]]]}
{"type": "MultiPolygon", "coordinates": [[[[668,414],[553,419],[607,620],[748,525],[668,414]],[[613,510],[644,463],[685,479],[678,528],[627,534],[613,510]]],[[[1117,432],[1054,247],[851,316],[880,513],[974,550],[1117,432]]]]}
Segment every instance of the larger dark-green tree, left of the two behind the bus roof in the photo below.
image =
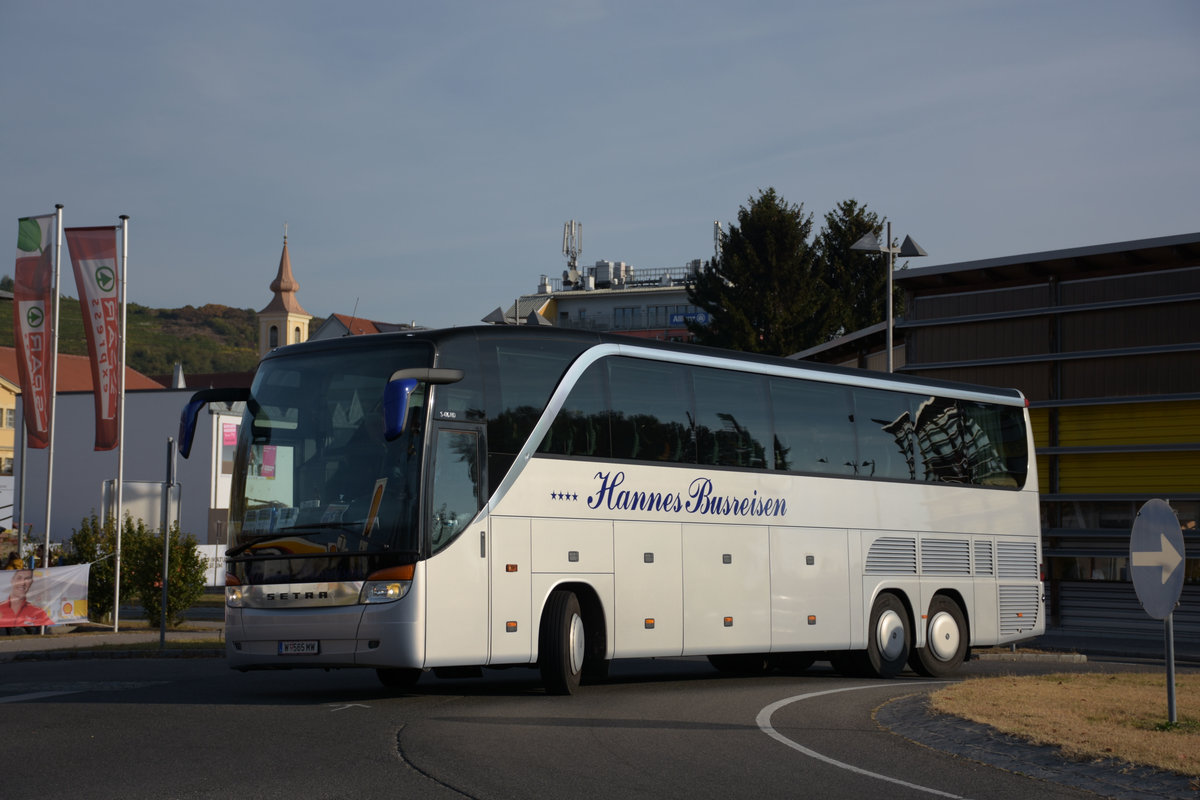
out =
{"type": "Polygon", "coordinates": [[[828,338],[829,287],[809,243],[812,215],[788,205],[774,188],[760,191],[721,235],[721,258],[688,287],[708,312],[707,325],[688,323],[701,344],[787,355],[828,338]]]}

